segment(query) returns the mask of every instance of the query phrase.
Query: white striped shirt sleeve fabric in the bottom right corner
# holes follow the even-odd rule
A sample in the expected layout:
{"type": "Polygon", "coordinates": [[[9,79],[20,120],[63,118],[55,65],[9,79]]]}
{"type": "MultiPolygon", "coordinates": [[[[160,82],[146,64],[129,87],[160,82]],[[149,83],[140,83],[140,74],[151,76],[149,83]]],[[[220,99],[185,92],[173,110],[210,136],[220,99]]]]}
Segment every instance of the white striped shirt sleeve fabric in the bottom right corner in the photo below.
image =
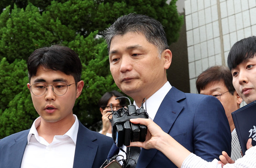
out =
{"type": "MultiPolygon", "coordinates": [[[[181,168],[221,168],[221,164],[218,164],[217,159],[207,162],[191,153],[184,160],[181,168]]],[[[256,146],[248,149],[245,152],[245,156],[237,159],[234,164],[226,164],[223,168],[256,168],[256,146]]]]}

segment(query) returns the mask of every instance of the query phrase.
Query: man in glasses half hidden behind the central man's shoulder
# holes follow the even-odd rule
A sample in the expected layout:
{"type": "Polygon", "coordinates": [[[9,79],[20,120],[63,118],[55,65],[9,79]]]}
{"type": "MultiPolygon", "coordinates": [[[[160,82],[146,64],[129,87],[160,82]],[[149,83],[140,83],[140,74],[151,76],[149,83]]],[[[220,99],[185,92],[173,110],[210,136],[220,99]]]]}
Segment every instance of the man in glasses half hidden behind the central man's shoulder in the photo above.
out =
{"type": "Polygon", "coordinates": [[[229,120],[232,136],[231,158],[237,160],[242,157],[241,147],[234,128],[231,113],[240,108],[242,99],[232,84],[232,74],[228,67],[213,66],[202,72],[196,80],[196,89],[199,94],[207,94],[220,100],[229,120]]]}

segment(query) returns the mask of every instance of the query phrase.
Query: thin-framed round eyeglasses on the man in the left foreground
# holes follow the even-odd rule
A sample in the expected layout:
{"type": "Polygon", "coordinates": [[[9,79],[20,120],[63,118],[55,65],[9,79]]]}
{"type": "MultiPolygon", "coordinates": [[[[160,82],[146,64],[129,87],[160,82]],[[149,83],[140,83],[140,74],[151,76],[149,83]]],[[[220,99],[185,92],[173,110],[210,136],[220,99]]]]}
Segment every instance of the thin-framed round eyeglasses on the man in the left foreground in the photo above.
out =
{"type": "MultiPolygon", "coordinates": [[[[73,83],[76,84],[76,83],[73,83]]],[[[70,86],[71,84],[66,84],[65,82],[56,82],[53,85],[45,85],[41,82],[36,82],[34,84],[32,84],[30,87],[31,92],[35,95],[35,96],[42,96],[43,94],[45,94],[45,92],[48,90],[48,86],[52,87],[52,91],[54,94],[58,95],[58,96],[62,96],[67,92],[68,86],[70,86]]]]}

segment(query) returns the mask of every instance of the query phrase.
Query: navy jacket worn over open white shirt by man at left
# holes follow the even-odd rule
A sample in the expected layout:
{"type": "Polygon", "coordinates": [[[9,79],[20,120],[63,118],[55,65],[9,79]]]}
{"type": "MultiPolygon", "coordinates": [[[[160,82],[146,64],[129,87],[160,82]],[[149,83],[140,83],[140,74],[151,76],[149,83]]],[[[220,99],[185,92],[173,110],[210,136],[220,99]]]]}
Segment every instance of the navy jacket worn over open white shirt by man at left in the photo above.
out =
{"type": "MultiPolygon", "coordinates": [[[[0,168],[20,168],[29,130],[0,141],[0,168]]],[[[87,129],[79,121],[73,168],[99,168],[113,144],[113,139],[87,129]]]]}

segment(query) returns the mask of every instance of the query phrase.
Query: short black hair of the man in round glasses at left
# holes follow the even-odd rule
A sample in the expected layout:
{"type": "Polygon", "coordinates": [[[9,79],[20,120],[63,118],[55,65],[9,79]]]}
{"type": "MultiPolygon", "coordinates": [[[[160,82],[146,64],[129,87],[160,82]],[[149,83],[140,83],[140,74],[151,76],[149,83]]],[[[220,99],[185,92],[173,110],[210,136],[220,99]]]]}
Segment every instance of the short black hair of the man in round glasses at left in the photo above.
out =
{"type": "Polygon", "coordinates": [[[39,66],[72,75],[75,82],[81,80],[82,64],[78,55],[69,47],[53,45],[35,50],[27,59],[29,82],[39,66]]]}

